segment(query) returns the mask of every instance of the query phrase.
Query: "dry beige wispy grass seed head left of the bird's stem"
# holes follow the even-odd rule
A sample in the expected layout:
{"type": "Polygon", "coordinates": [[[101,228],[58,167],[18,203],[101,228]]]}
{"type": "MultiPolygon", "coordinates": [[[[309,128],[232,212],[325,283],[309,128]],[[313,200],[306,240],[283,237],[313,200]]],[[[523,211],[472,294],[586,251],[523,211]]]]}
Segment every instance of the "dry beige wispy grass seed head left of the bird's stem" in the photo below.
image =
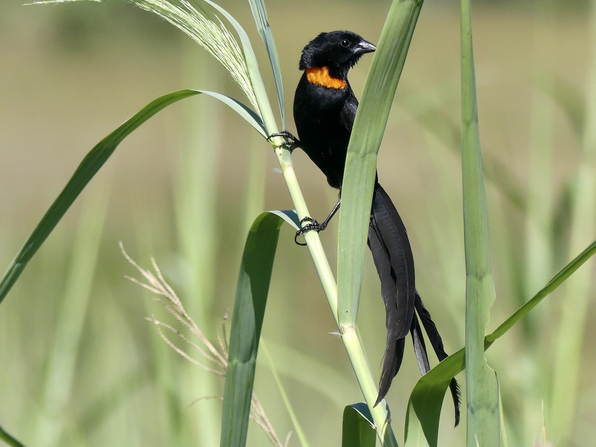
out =
{"type": "MultiPolygon", "coordinates": [[[[218,340],[218,347],[214,346],[213,343],[207,339],[203,331],[198,327],[198,325],[194,322],[194,320],[188,315],[187,311],[182,306],[181,300],[178,298],[178,295],[173,290],[173,288],[167,284],[166,280],[163,278],[162,272],[160,271],[157,263],[151,258],[151,264],[153,265],[153,269],[155,274],[149,270],[145,270],[141,266],[139,266],[129,255],[126,253],[122,242],[120,242],[120,252],[122,252],[123,256],[130,262],[135,268],[139,271],[139,273],[145,278],[145,282],[136,280],[135,278],[129,277],[128,275],[126,278],[131,280],[133,283],[140,285],[141,287],[150,290],[154,294],[157,294],[157,298],[155,300],[159,302],[166,310],[171,313],[176,320],[186,328],[193,336],[197,337],[201,343],[203,343],[204,348],[199,346],[197,343],[194,343],[193,340],[189,339],[182,331],[178,330],[176,327],[167,324],[166,322],[160,321],[154,317],[147,317],[148,321],[151,321],[153,324],[156,325],[157,332],[159,336],[162,337],[164,342],[166,342],[173,350],[183,356],[185,359],[190,361],[191,363],[203,368],[209,373],[213,373],[219,375],[221,377],[225,377],[226,369],[228,367],[228,340],[226,337],[226,330],[225,330],[225,319],[224,317],[224,325],[222,325],[222,333],[217,333],[217,340],[218,340]],[[180,337],[180,339],[187,343],[190,347],[200,353],[203,358],[211,362],[213,364],[212,367],[203,364],[196,359],[193,358],[188,352],[180,347],[176,346],[174,342],[166,335],[164,332],[170,332],[175,336],[180,337]]],[[[209,396],[199,398],[197,401],[202,399],[208,399],[209,396]]],[[[196,402],[196,401],[195,401],[196,402]]],[[[194,403],[194,402],[193,402],[194,403]]],[[[287,447],[288,442],[290,440],[290,433],[285,439],[285,442],[282,443],[280,438],[277,436],[274,427],[272,426],[269,418],[265,413],[265,409],[263,409],[262,404],[257,398],[257,395],[253,393],[250,405],[250,418],[261,427],[263,432],[265,432],[265,436],[271,442],[271,445],[275,447],[287,447]]]]}

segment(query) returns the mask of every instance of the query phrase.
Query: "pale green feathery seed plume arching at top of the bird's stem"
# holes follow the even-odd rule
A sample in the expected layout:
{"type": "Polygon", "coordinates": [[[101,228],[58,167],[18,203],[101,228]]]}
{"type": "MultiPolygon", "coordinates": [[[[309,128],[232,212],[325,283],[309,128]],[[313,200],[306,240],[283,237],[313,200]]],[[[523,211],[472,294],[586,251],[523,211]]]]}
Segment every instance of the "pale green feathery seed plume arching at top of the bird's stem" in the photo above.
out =
{"type": "MultiPolygon", "coordinates": [[[[104,0],[38,0],[29,5],[104,0]]],[[[209,14],[197,0],[119,0],[135,5],[169,21],[216,58],[240,86],[257,115],[260,114],[249,71],[238,42],[215,14],[209,14]],[[215,17],[215,18],[212,18],[215,17]]]]}

